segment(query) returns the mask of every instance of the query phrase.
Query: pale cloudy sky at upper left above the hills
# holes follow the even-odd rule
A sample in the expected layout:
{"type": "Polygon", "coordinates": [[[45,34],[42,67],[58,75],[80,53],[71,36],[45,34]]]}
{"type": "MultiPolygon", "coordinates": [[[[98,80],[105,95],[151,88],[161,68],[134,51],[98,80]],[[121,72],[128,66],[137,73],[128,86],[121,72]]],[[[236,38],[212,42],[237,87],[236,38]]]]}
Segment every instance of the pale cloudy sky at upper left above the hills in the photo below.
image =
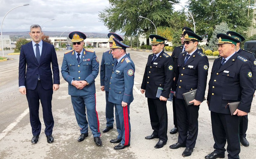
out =
{"type": "MultiPolygon", "coordinates": [[[[185,5],[186,0],[180,0],[185,5]]],[[[42,25],[42,31],[108,33],[108,28],[98,19],[99,11],[109,7],[108,0],[0,0],[2,32],[29,31],[32,24],[42,25]],[[17,7],[23,4],[27,6],[17,7]]],[[[179,5],[175,10],[181,9],[179,5]]]]}

